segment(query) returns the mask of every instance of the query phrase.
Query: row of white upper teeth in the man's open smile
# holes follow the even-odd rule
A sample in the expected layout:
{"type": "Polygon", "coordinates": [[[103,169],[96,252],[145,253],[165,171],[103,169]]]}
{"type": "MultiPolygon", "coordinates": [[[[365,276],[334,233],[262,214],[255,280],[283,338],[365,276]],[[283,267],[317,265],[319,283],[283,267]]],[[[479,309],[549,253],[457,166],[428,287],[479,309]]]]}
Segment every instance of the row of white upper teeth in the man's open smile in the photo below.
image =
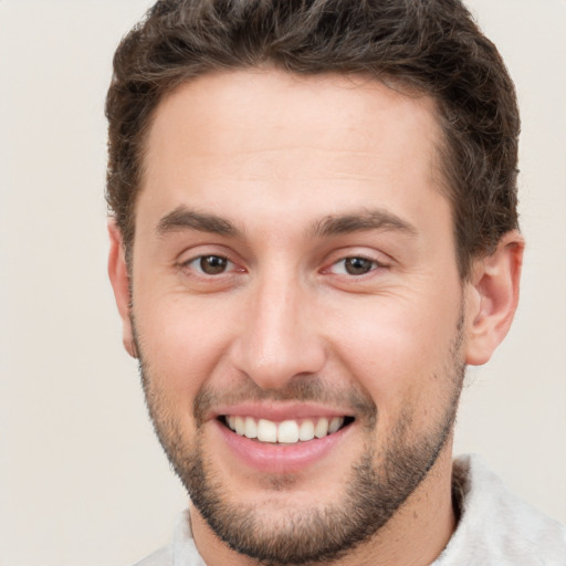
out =
{"type": "Polygon", "coordinates": [[[241,437],[256,438],[261,442],[283,442],[294,444],[300,440],[313,440],[324,438],[336,432],[344,424],[344,417],[327,419],[284,420],[273,422],[268,419],[254,419],[253,417],[226,418],[228,426],[241,437]]]}

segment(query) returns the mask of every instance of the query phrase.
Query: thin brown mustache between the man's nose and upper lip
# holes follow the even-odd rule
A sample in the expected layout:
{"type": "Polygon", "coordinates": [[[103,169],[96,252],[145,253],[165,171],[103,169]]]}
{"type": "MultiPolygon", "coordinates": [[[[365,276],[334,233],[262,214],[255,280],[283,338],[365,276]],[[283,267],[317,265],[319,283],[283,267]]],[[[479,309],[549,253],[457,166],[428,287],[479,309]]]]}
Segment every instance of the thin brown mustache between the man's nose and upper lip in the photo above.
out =
{"type": "Polygon", "coordinates": [[[260,401],[312,401],[347,407],[356,419],[363,419],[368,426],[373,426],[377,418],[377,407],[369,394],[355,387],[336,389],[313,376],[294,379],[281,389],[262,389],[251,379],[228,390],[205,384],[195,397],[192,412],[197,427],[200,427],[214,407],[260,401]]]}

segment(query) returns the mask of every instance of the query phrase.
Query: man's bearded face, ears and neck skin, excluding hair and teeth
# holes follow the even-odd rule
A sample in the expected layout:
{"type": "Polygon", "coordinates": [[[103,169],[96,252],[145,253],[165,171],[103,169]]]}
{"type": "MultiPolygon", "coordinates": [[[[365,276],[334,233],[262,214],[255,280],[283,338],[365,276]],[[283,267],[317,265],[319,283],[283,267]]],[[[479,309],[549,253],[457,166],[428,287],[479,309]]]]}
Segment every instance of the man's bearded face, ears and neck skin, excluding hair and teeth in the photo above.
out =
{"type": "Polygon", "coordinates": [[[439,142],[432,101],[359,77],[238,71],[160,103],[109,274],[207,564],[429,564],[449,541],[464,367],[509,329],[523,242],[460,281],[439,142]],[[354,421],[260,469],[218,419],[254,411],[354,421]]]}

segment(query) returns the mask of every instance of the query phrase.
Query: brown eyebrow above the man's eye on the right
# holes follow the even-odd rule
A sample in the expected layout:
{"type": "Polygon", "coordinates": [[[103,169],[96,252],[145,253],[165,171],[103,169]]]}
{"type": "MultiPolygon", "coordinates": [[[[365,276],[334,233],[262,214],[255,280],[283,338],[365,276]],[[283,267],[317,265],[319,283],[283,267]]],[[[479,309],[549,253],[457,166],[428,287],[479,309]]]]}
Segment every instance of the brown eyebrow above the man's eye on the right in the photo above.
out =
{"type": "Polygon", "coordinates": [[[411,237],[418,234],[418,230],[412,224],[382,209],[325,217],[314,224],[312,233],[315,237],[324,237],[369,230],[392,230],[406,232],[411,237]]]}

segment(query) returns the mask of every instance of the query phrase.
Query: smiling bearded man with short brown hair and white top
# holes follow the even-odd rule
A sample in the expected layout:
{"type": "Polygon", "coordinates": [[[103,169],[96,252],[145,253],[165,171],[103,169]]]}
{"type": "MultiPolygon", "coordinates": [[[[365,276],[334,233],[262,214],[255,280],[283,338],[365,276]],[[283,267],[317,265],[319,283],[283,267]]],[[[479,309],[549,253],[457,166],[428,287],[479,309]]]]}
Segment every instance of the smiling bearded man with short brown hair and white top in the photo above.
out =
{"type": "Polygon", "coordinates": [[[142,564],[566,564],[451,457],[524,248],[513,83],[465,8],[165,0],[114,69],[109,275],[191,499],[142,564]]]}

